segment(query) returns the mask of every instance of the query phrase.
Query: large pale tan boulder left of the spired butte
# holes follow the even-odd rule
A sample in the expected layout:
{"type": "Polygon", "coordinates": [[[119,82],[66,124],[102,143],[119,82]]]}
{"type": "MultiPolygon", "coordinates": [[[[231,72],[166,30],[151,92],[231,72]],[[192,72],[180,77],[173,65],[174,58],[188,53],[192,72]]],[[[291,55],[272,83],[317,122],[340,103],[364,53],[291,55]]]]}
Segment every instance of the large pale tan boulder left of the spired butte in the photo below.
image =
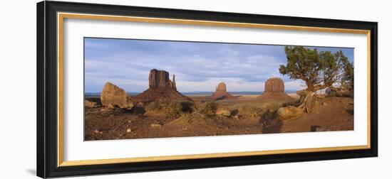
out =
{"type": "Polygon", "coordinates": [[[108,108],[119,107],[132,109],[133,107],[133,103],[130,101],[127,92],[110,82],[105,83],[105,86],[100,93],[100,102],[104,107],[108,108]]]}

